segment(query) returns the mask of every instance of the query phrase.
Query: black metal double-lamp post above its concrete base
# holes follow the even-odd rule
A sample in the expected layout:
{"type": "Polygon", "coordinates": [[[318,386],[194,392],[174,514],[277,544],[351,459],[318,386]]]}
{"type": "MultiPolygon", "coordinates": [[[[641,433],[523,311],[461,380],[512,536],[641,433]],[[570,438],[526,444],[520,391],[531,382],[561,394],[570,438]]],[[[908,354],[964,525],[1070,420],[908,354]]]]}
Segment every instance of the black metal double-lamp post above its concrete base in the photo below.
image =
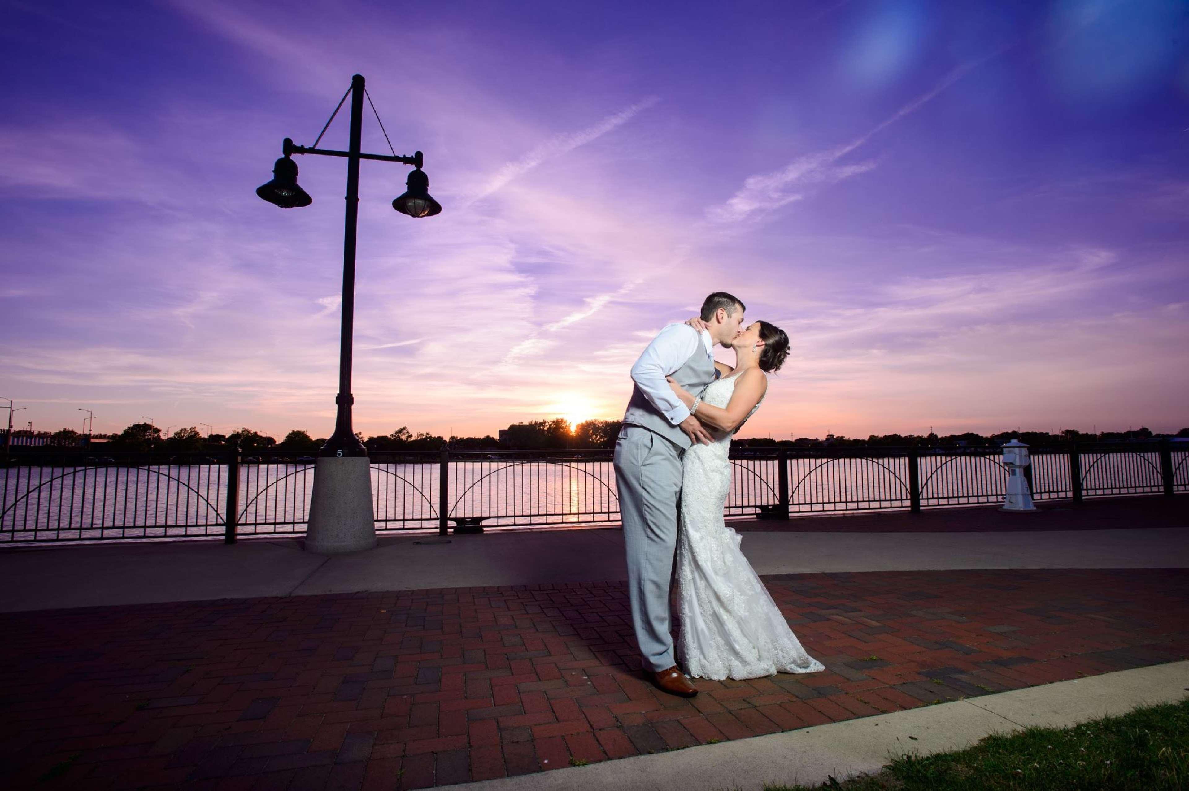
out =
{"type": "MultiPolygon", "coordinates": [[[[342,330],[340,334],[339,348],[339,394],[334,403],[338,404],[338,416],[334,423],[334,434],[326,441],[319,456],[366,456],[367,449],[351,425],[351,406],[354,404],[354,396],[351,394],[351,341],[352,325],[354,323],[356,308],[356,227],[358,224],[359,203],[359,160],[377,159],[380,162],[398,162],[404,165],[413,165],[409,173],[408,190],[401,197],[392,201],[392,208],[410,217],[430,217],[442,210],[438,201],[429,197],[429,177],[421,170],[422,154],[416,152],[411,157],[370,154],[360,151],[360,138],[363,135],[364,119],[364,78],[360,75],[351,77],[351,133],[347,151],[331,151],[319,148],[317,141],[314,146],[294,145],[289,138],[284,139],[282,153],[284,156],[276,162],[272,167],[272,181],[262,184],[256,194],[269,203],[275,203],[283,209],[291,209],[309,205],[313,198],[297,185],[297,164],[290,159],[298,154],[325,154],[328,157],[347,158],[347,217],[342,234],[342,330]]],[[[346,96],[344,96],[344,100],[346,96]]],[[[339,102],[339,107],[342,102],[339,102]]],[[[375,107],[372,107],[375,110],[375,107]]],[[[338,109],[334,110],[338,113],[338,109]]],[[[377,120],[378,120],[377,115],[377,120]]],[[[334,120],[334,115],[331,115],[334,120]]],[[[327,121],[329,126],[331,121],[327,121]]],[[[383,125],[380,125],[383,128],[383,125]]],[[[326,132],[323,127],[322,132],[326,132]]],[[[388,133],[385,133],[385,139],[388,133]]],[[[322,137],[319,135],[319,140],[322,137]]]]}

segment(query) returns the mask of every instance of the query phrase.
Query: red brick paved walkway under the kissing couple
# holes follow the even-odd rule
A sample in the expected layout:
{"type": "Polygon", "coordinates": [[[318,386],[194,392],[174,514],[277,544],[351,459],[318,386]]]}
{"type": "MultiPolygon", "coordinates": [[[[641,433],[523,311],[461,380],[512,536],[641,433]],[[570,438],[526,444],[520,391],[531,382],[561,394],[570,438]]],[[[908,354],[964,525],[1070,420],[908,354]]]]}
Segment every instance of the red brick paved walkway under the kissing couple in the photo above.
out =
{"type": "Polygon", "coordinates": [[[765,580],[828,670],[691,701],[628,670],[622,583],[0,615],[0,781],[414,789],[1189,656],[1187,570],[765,580]]]}

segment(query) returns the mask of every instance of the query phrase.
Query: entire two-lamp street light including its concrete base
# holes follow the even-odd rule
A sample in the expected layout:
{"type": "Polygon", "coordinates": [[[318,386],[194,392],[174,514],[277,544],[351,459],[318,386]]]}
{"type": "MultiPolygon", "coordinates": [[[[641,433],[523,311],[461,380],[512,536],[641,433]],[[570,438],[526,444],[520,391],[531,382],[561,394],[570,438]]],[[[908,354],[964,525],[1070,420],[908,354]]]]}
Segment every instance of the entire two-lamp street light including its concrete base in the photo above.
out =
{"type": "MultiPolygon", "coordinates": [[[[370,154],[361,151],[364,99],[367,99],[361,75],[351,77],[351,88],[344,95],[331,120],[322,128],[325,134],[347,95],[351,96],[351,128],[347,151],[319,148],[319,134],[310,147],[295,145],[290,138],[282,144],[284,154],[272,166],[272,181],[262,184],[256,194],[283,209],[309,205],[313,198],[297,185],[297,165],[292,154],[322,154],[347,159],[346,216],[342,229],[342,302],[339,333],[339,392],[334,432],[319,449],[314,466],[314,491],[310,494],[306,549],[315,552],[353,552],[376,545],[376,519],[372,512],[371,468],[367,448],[356,436],[352,425],[351,393],[352,340],[356,312],[356,232],[359,224],[359,162],[373,159],[413,165],[407,190],[392,201],[392,208],[410,217],[428,217],[441,211],[441,205],[429,196],[429,177],[422,172],[422,153],[411,157],[370,154]]],[[[369,99],[370,101],[370,99],[369,99]]],[[[372,110],[375,112],[375,106],[372,110]]],[[[376,116],[377,121],[379,115],[376,116]]],[[[380,124],[383,129],[383,124],[380,124]]],[[[384,133],[385,140],[388,133],[384,133]]]]}

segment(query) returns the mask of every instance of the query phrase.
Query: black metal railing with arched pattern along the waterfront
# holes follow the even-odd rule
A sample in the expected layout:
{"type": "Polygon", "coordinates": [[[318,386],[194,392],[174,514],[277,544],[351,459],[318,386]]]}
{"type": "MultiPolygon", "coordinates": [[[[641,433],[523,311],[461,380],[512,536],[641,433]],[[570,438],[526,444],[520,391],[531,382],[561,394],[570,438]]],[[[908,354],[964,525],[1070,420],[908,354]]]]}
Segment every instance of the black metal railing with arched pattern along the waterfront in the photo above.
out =
{"type": "MultiPolygon", "coordinates": [[[[0,544],[304,532],[307,453],[89,456],[23,449],[0,468],[0,544]]],[[[737,448],[729,517],[946,507],[1004,500],[1001,451],[967,448],[737,448]]],[[[1037,500],[1189,492],[1189,442],[1034,448],[1037,500]]],[[[618,520],[610,450],[375,453],[382,532],[618,520]]]]}

